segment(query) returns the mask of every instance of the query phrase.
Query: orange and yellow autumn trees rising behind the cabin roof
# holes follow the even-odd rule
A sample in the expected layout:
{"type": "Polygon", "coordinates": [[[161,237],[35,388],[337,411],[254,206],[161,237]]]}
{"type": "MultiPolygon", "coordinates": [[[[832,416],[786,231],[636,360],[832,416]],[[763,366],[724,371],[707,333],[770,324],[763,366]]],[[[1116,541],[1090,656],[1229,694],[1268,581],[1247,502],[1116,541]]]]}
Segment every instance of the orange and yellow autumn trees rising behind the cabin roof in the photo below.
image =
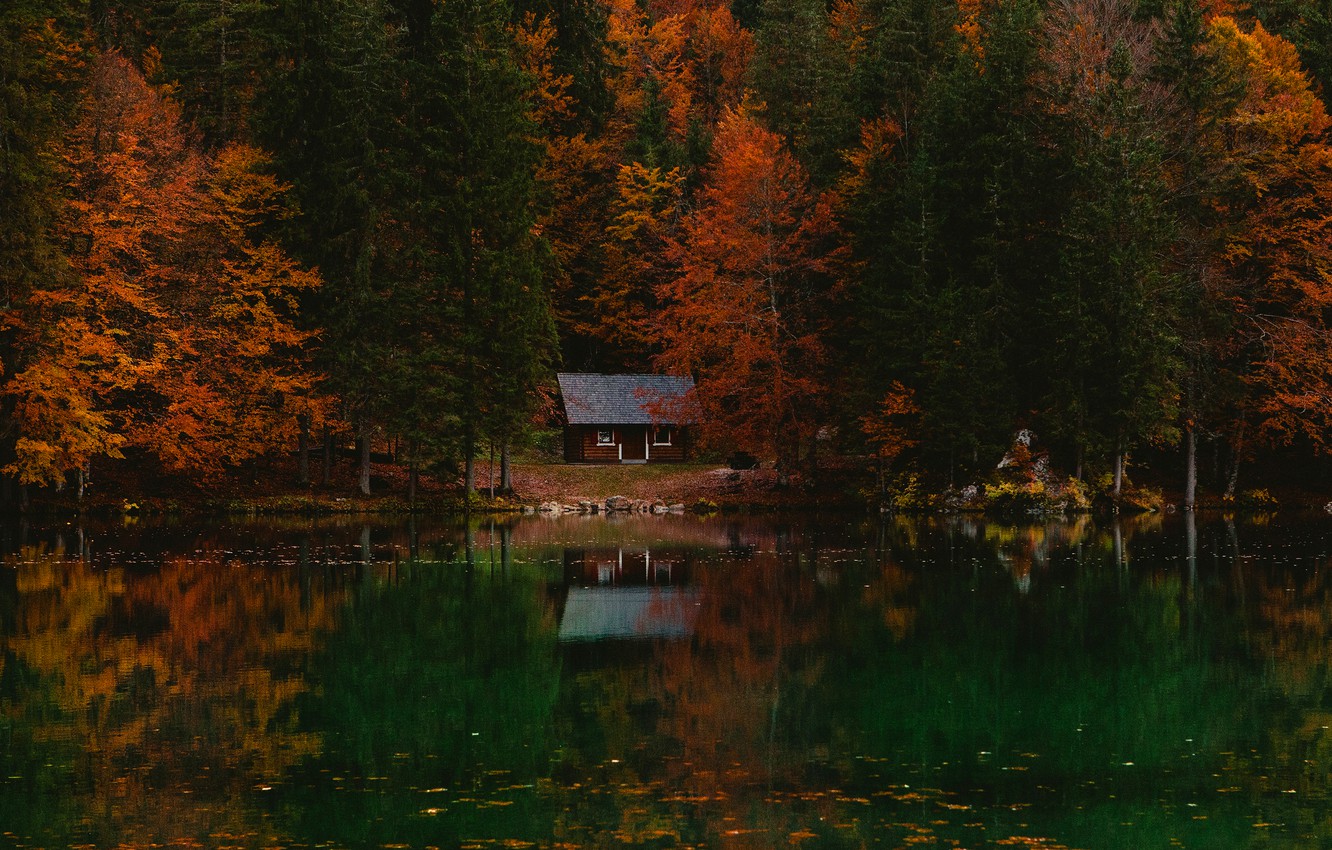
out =
{"type": "MultiPolygon", "coordinates": [[[[549,25],[529,20],[518,44],[550,115],[550,92],[567,79],[550,71],[549,25]]],[[[559,120],[538,116],[553,128],[538,172],[542,234],[559,262],[554,301],[571,365],[647,368],[655,344],[642,320],[667,270],[662,246],[714,125],[743,95],[753,51],[726,3],[607,0],[605,120],[571,132],[567,105],[559,120]]]]}

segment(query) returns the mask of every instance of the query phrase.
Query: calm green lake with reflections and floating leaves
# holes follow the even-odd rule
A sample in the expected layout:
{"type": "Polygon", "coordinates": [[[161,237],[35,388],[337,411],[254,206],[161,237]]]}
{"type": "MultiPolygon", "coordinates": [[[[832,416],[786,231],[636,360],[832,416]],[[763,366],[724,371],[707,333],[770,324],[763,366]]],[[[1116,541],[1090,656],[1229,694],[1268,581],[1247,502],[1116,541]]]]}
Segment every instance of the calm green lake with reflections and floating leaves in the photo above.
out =
{"type": "Polygon", "coordinates": [[[1332,847],[1325,516],[0,546],[0,846],[1332,847]]]}

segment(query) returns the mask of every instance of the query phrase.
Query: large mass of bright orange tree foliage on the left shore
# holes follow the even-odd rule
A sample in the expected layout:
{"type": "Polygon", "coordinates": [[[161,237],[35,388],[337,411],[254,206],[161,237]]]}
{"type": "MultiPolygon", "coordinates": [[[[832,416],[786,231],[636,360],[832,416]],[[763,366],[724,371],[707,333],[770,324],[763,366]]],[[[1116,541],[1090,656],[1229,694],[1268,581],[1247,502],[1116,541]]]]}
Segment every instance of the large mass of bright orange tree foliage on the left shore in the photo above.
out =
{"type": "Polygon", "coordinates": [[[140,446],[208,474],[294,432],[314,398],[296,296],[318,276],[261,236],[285,213],[262,156],[204,156],[176,104],[107,53],[64,160],[69,268],[23,318],[7,472],[60,482],[140,446]]]}

